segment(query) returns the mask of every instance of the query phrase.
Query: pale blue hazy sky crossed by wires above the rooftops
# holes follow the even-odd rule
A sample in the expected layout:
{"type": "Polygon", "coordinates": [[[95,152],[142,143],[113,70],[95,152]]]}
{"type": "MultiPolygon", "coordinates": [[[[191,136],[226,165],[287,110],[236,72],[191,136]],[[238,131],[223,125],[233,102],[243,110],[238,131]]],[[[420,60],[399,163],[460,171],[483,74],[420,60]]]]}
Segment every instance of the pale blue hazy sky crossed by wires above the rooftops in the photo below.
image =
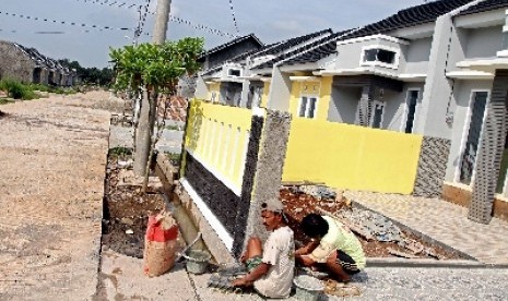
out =
{"type": "MultiPolygon", "coordinates": [[[[110,47],[120,48],[134,41],[134,29],[140,23],[138,8],[147,2],[143,32],[138,41],[151,41],[156,1],[0,0],[0,40],[34,47],[54,59],[105,68],[108,67],[110,47]]],[[[366,25],[424,2],[173,0],[170,15],[175,20],[168,24],[167,38],[204,37],[205,49],[210,49],[237,35],[253,33],[262,43],[272,44],[326,28],[339,32],[366,25]]]]}

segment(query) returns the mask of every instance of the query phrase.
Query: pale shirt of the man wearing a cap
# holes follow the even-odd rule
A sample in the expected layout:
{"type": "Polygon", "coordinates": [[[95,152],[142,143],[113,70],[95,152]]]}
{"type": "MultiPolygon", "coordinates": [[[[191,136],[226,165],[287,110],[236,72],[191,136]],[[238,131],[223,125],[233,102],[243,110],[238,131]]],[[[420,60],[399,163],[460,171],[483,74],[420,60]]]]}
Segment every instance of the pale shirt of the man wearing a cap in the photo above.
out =
{"type": "Polygon", "coordinates": [[[290,227],[270,233],[263,245],[262,262],[270,264],[270,269],[253,282],[255,289],[269,298],[290,297],[295,269],[295,241],[290,227]]]}

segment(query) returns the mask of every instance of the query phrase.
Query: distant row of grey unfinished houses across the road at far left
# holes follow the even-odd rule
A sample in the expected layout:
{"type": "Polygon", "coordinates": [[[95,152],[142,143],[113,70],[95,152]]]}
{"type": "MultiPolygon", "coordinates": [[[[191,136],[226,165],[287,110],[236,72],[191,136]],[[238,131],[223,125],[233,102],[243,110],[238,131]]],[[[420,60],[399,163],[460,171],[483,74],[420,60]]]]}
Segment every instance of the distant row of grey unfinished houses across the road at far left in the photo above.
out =
{"type": "Polygon", "coordinates": [[[75,70],[62,67],[35,48],[0,40],[0,79],[5,77],[23,83],[72,86],[78,76],[75,70]]]}

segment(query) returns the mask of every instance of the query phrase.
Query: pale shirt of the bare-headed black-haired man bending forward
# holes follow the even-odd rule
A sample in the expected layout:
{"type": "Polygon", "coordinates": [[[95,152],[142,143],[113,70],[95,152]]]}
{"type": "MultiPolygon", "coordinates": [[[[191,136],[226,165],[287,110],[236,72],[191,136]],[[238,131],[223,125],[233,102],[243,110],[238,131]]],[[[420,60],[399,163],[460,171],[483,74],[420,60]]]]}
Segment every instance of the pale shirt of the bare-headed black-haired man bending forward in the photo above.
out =
{"type": "Polygon", "coordinates": [[[322,237],[318,248],[310,254],[310,258],[318,263],[326,263],[328,256],[335,250],[341,250],[352,257],[358,269],[365,268],[366,260],[359,240],[339,220],[323,216],[328,224],[328,232],[322,237]]]}

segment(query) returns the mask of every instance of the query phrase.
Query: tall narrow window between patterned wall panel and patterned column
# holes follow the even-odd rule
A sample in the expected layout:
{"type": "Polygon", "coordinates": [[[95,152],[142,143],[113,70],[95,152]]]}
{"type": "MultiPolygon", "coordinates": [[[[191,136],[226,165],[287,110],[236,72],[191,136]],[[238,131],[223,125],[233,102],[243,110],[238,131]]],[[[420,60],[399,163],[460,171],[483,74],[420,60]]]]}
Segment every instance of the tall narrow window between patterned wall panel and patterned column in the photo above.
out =
{"type": "Polygon", "coordinates": [[[468,185],[471,184],[473,178],[487,98],[488,92],[482,91],[473,92],[471,99],[471,118],[459,169],[459,181],[468,185]]]}

